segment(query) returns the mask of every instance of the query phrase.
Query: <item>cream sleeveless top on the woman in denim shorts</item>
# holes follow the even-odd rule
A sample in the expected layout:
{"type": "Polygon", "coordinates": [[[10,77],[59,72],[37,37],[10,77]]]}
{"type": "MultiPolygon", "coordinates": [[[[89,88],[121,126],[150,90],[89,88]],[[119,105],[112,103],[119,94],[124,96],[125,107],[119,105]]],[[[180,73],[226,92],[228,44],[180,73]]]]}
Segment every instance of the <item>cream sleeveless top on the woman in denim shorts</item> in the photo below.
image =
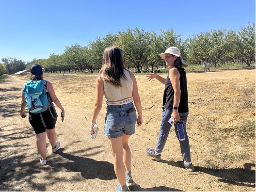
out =
{"type": "Polygon", "coordinates": [[[133,101],[133,81],[128,70],[124,69],[124,75],[126,78],[121,78],[122,87],[119,88],[104,80],[104,96],[108,105],[124,105],[133,101]]]}

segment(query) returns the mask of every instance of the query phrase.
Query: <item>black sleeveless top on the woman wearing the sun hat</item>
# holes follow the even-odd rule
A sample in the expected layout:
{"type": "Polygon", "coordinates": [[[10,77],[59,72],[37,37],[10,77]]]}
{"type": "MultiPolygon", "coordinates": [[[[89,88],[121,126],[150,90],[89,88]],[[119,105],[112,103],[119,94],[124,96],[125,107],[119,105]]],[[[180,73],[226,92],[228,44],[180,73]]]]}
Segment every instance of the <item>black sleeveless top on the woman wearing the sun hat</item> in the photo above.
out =
{"type": "MultiPolygon", "coordinates": [[[[189,112],[189,103],[188,103],[188,88],[187,88],[187,76],[184,68],[175,66],[180,74],[179,83],[180,83],[180,102],[178,107],[178,112],[189,112]]],[[[165,80],[165,88],[163,93],[163,105],[168,110],[173,110],[174,103],[174,89],[169,78],[169,73],[165,80]]]]}

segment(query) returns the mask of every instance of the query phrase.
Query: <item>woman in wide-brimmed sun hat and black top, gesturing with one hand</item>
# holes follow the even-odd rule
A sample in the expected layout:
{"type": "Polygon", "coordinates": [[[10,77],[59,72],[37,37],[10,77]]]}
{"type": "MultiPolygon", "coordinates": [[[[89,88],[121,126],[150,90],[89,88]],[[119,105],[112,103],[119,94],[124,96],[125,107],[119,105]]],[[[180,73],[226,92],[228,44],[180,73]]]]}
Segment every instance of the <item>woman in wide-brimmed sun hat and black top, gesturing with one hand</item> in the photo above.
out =
{"type": "MultiPolygon", "coordinates": [[[[188,106],[188,89],[187,89],[187,77],[183,67],[188,66],[184,60],[180,57],[180,50],[176,47],[170,47],[165,50],[164,53],[159,54],[161,58],[165,60],[166,65],[170,68],[167,78],[162,78],[155,72],[153,74],[147,74],[148,80],[157,79],[161,83],[165,84],[163,94],[163,112],[160,124],[160,133],[155,149],[146,148],[146,154],[153,157],[155,160],[161,160],[161,152],[166,143],[168,134],[172,125],[168,120],[173,117],[174,123],[182,120],[184,123],[185,140],[179,141],[181,154],[183,161],[177,161],[177,163],[186,168],[188,171],[194,171],[194,167],[191,162],[190,144],[186,131],[186,122],[189,114],[188,106]]],[[[176,130],[176,126],[175,126],[176,130]]],[[[176,130],[176,137],[178,133],[176,130]]]]}

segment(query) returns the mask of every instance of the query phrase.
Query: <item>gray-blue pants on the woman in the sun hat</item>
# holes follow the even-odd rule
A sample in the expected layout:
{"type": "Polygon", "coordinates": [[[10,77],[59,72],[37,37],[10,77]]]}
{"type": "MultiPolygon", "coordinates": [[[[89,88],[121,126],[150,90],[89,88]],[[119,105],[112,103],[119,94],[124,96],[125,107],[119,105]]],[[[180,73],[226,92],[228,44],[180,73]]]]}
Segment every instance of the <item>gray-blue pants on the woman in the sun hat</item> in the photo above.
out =
{"type": "MultiPolygon", "coordinates": [[[[158,153],[162,152],[163,147],[166,143],[167,137],[169,135],[170,129],[172,127],[172,125],[168,122],[168,120],[171,118],[172,112],[173,112],[172,110],[168,110],[165,107],[163,108],[159,138],[158,138],[157,147],[156,147],[156,152],[158,153]]],[[[185,124],[187,123],[188,115],[189,115],[189,112],[179,113],[180,118],[185,122],[185,124]]],[[[178,140],[178,141],[180,144],[180,150],[181,150],[183,160],[190,162],[191,161],[190,144],[189,144],[187,129],[184,124],[183,124],[183,129],[185,133],[185,140],[184,141],[178,140]]],[[[176,132],[176,137],[178,139],[178,133],[176,130],[175,132],[176,132]]]]}

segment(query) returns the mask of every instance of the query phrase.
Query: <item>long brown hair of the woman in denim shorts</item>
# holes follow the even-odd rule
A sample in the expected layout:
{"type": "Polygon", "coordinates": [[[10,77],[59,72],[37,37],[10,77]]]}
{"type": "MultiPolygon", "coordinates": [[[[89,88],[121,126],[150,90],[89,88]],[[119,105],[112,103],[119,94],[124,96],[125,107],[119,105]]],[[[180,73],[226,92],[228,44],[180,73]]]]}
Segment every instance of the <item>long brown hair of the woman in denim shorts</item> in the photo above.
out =
{"type": "Polygon", "coordinates": [[[102,74],[103,79],[115,87],[121,87],[121,78],[126,78],[124,70],[126,68],[122,49],[117,46],[105,48],[99,75],[102,74]]]}

